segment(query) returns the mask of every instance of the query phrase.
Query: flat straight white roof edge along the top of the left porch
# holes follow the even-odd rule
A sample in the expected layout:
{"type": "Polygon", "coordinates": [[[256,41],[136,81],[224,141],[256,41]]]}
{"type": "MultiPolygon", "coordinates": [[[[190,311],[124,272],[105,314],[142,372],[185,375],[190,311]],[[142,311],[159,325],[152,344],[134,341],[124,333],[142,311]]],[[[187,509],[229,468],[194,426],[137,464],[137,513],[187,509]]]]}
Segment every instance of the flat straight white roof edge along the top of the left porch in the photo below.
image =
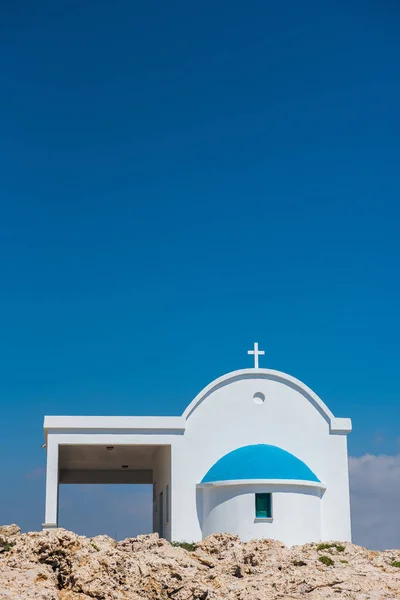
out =
{"type": "Polygon", "coordinates": [[[45,416],[44,429],[185,429],[183,417],[45,416]]]}

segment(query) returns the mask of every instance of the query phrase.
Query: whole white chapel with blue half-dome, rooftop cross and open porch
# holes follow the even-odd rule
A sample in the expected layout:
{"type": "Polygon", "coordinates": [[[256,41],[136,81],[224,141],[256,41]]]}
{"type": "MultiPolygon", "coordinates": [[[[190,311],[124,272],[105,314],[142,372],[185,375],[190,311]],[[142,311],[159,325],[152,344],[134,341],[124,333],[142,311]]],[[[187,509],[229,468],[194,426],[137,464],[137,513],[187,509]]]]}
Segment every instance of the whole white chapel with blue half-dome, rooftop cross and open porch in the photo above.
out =
{"type": "Polygon", "coordinates": [[[304,383],[254,367],[207,385],[178,417],[46,416],[44,529],[63,483],[153,485],[153,530],[287,545],[351,539],[347,434],[304,383]]]}

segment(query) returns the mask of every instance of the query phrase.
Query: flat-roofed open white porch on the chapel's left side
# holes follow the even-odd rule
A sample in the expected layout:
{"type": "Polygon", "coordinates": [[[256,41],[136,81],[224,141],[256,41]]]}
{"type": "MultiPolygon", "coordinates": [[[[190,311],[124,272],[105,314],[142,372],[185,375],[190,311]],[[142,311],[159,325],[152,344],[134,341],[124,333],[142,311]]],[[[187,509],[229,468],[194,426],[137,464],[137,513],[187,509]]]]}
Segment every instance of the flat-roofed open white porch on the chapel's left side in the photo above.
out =
{"type": "Polygon", "coordinates": [[[150,484],[153,531],[171,539],[171,448],[182,425],[179,417],[46,417],[43,529],[62,526],[60,485],[150,484]]]}

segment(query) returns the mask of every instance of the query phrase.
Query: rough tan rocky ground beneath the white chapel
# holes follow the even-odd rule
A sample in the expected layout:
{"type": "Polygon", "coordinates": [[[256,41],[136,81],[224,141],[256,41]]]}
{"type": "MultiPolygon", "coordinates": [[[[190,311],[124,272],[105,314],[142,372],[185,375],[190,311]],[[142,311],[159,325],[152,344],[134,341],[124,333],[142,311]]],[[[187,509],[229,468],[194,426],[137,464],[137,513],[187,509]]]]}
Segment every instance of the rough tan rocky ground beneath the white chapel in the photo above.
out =
{"type": "Polygon", "coordinates": [[[400,599],[400,551],[348,543],[286,548],[213,535],[194,549],[157,534],[122,542],[0,527],[0,599],[400,599]]]}

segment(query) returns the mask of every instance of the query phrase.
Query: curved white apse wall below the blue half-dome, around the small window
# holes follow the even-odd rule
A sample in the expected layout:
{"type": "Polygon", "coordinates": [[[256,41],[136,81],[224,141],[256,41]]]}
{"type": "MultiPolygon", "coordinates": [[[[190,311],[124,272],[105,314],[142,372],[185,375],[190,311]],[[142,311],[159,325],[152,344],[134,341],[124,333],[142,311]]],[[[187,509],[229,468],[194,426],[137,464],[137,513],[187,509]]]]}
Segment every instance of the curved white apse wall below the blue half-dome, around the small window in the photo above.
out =
{"type": "Polygon", "coordinates": [[[242,541],[283,540],[288,545],[321,539],[320,491],[315,488],[270,485],[206,487],[203,495],[203,536],[234,533],[242,541]],[[272,493],[272,521],[255,519],[255,494],[272,493]]]}

